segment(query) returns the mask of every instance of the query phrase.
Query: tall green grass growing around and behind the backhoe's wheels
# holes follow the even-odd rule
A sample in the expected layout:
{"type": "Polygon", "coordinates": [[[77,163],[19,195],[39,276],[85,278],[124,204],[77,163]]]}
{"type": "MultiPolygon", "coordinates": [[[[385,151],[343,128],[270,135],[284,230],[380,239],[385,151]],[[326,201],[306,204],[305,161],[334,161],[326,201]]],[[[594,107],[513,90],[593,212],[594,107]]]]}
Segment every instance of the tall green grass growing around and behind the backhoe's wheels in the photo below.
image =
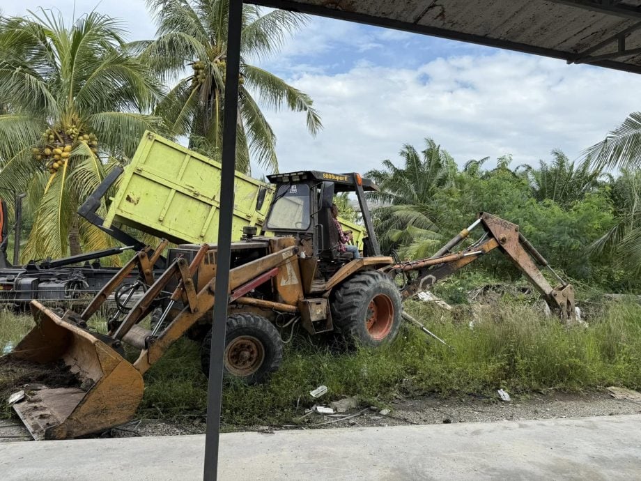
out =
{"type": "MultiPolygon", "coordinates": [[[[590,319],[589,327],[567,328],[522,303],[502,302],[479,311],[470,329],[470,307],[444,312],[408,303],[408,312],[454,348],[428,342],[412,326],[382,349],[336,351],[295,337],[270,383],[247,386],[228,379],[223,420],[235,426],[291,422],[311,406],[309,391],[327,385],[323,402],[356,395],[385,404],[396,394],[451,395],[457,392],[511,393],[542,388],[593,390],[607,385],[641,388],[641,306],[613,303],[590,319]],[[297,406],[299,406],[297,410],[297,406]]],[[[0,346],[20,339],[29,326],[22,316],[0,316],[0,346]]],[[[199,346],[176,342],[145,376],[139,415],[146,418],[202,416],[206,378],[199,346]]]]}

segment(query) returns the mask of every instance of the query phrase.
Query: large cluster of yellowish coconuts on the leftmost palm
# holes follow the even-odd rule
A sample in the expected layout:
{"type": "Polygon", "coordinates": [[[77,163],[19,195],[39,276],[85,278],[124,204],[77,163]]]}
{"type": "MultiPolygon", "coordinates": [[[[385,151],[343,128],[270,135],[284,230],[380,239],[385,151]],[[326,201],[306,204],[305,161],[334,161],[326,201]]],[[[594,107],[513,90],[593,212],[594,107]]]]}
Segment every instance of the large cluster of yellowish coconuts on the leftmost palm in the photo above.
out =
{"type": "Polygon", "coordinates": [[[43,133],[43,142],[33,147],[33,158],[44,162],[49,174],[55,174],[60,167],[67,165],[74,144],[85,142],[94,154],[98,153],[98,138],[93,133],[84,133],[76,125],[65,129],[48,128],[43,133]]]}

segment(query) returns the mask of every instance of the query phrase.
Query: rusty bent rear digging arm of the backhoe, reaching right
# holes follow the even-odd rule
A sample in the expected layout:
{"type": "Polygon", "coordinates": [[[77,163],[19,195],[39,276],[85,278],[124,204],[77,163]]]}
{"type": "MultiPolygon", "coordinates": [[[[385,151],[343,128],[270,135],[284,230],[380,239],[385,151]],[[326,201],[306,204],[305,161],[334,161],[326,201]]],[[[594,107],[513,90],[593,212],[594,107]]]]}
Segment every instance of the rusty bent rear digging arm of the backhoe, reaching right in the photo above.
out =
{"type": "Polygon", "coordinates": [[[408,299],[420,291],[431,289],[436,282],[445,279],[456,270],[497,248],[507,255],[530,280],[551,310],[557,312],[562,319],[573,319],[575,315],[574,289],[571,284],[564,282],[555,273],[548,261],[539,254],[523,234],[520,234],[518,225],[488,213],[479,214],[479,218],[468,229],[463,229],[432,257],[394,264],[385,268],[385,271],[393,277],[401,274],[405,277],[406,282],[401,289],[401,295],[403,299],[408,299]],[[450,253],[451,249],[468,238],[470,231],[479,225],[483,227],[485,234],[477,243],[470,245],[465,250],[450,253]],[[536,266],[535,260],[557,277],[559,285],[556,287],[550,285],[536,266]]]}

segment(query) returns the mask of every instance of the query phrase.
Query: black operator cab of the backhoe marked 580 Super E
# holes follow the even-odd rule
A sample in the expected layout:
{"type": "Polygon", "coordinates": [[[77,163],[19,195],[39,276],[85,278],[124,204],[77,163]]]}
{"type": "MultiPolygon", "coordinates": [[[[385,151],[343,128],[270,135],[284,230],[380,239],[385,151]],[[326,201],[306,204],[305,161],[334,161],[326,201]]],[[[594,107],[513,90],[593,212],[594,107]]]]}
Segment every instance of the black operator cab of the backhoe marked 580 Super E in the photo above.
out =
{"type": "Polygon", "coordinates": [[[364,192],[377,191],[375,183],[360,174],[330,174],[298,171],[268,176],[276,192],[263,229],[276,236],[295,236],[302,252],[321,261],[344,264],[353,254],[341,252],[339,232],[332,219],[334,194],[355,192],[363,215],[367,238],[364,257],[380,254],[364,192]]]}

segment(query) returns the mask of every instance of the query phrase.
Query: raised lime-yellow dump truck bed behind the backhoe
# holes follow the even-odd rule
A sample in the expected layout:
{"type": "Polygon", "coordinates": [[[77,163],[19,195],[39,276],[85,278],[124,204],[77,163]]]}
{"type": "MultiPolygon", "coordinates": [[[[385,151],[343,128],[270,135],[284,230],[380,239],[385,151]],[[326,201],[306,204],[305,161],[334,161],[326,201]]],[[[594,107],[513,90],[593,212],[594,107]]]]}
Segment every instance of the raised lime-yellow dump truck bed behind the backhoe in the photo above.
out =
{"type": "MultiPolygon", "coordinates": [[[[274,189],[236,171],[233,187],[221,190],[220,174],[220,162],[145,132],[103,225],[118,222],[178,244],[215,243],[219,194],[233,188],[232,239],[238,241],[243,227],[262,227],[274,189]]],[[[353,231],[355,243],[362,247],[363,227],[340,222],[343,229],[353,231]]]]}

